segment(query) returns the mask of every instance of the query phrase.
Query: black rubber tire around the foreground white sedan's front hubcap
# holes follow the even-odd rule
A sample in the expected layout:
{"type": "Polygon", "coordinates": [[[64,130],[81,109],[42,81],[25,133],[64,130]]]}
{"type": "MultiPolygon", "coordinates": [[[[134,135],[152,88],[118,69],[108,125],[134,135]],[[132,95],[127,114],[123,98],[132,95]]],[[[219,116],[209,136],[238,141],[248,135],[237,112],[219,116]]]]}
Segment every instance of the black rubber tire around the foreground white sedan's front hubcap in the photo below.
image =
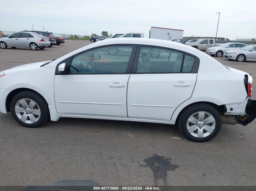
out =
{"type": "Polygon", "coordinates": [[[46,103],[45,99],[41,95],[39,95],[35,92],[32,92],[32,91],[23,91],[23,92],[15,95],[12,98],[12,101],[10,104],[10,110],[12,113],[12,117],[15,119],[15,121],[24,127],[30,127],[30,128],[40,127],[43,124],[45,124],[49,120],[49,117],[50,117],[48,104],[46,103]],[[15,113],[15,105],[21,99],[31,99],[36,102],[36,104],[38,105],[38,107],[40,108],[40,111],[41,111],[41,115],[40,115],[40,118],[38,119],[38,121],[36,121],[35,123],[25,123],[18,118],[18,116],[15,113]]]}

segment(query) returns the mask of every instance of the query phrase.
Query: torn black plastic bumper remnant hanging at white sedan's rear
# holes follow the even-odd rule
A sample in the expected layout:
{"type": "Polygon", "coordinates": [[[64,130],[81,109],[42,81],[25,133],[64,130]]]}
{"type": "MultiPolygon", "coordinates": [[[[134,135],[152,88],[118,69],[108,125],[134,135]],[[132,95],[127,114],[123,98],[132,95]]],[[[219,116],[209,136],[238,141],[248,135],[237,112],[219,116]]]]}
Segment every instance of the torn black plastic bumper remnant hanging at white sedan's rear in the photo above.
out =
{"type": "Polygon", "coordinates": [[[238,117],[237,123],[246,126],[256,118],[256,100],[248,99],[245,108],[245,115],[238,117]]]}

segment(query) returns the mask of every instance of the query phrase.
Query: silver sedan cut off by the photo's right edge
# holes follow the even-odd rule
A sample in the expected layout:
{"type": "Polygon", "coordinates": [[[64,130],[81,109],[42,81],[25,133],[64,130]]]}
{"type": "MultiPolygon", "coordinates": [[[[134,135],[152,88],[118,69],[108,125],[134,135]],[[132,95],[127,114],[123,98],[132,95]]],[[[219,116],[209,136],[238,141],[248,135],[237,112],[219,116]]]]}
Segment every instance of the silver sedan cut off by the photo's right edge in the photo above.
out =
{"type": "Polygon", "coordinates": [[[256,60],[256,44],[247,45],[237,50],[226,51],[224,58],[236,60],[238,62],[256,60]]]}

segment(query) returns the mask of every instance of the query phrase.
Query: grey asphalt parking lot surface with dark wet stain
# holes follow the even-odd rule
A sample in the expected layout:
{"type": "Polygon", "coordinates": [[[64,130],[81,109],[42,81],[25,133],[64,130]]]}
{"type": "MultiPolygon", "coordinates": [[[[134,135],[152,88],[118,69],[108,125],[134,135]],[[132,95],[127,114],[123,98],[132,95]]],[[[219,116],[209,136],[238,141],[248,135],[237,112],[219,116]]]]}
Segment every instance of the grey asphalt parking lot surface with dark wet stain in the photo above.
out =
{"type": "MultiPolygon", "coordinates": [[[[90,43],[0,49],[0,71],[57,59],[90,43]]],[[[256,62],[217,60],[256,81],[256,62]]],[[[252,93],[256,99],[256,86],[252,93]]],[[[30,129],[10,113],[0,113],[0,132],[0,185],[80,179],[101,185],[256,185],[256,120],[245,127],[222,125],[205,143],[188,141],[178,126],[166,124],[63,118],[30,129]]]]}

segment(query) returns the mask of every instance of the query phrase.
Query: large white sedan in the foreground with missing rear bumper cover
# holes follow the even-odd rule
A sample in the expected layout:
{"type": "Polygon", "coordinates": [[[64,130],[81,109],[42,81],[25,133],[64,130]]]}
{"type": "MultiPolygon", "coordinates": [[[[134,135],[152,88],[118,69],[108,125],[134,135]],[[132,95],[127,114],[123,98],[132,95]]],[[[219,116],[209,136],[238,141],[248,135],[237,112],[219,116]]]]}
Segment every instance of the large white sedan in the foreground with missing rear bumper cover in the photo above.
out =
{"type": "Polygon", "coordinates": [[[186,138],[204,142],[221,123],[255,119],[251,85],[248,73],[193,47],[116,38],[0,72],[0,111],[25,127],[60,117],[177,123],[186,138]],[[111,55],[111,48],[127,51],[111,55]],[[152,49],[161,55],[151,57],[152,49]]]}

